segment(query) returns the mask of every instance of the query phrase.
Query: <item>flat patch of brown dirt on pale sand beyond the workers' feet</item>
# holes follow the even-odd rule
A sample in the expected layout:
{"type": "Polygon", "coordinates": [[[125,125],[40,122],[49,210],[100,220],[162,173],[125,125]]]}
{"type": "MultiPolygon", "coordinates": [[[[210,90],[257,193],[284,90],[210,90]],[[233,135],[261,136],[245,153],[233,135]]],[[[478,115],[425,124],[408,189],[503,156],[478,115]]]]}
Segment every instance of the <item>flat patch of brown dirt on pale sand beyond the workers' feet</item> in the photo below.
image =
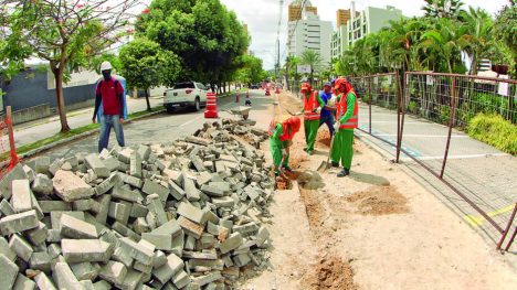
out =
{"type": "Polygon", "coordinates": [[[404,214],[410,211],[408,198],[393,186],[372,186],[354,193],[346,200],[354,203],[363,215],[404,214]]]}

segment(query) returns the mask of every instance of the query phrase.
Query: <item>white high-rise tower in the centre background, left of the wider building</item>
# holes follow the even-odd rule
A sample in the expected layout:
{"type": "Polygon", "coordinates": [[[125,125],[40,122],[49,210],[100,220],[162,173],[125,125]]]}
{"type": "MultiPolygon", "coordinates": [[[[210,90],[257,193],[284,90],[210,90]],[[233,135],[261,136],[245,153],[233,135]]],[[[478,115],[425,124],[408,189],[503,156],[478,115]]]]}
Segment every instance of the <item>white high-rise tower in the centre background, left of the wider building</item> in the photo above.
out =
{"type": "Polygon", "coordinates": [[[300,57],[306,50],[312,50],[321,56],[321,65],[328,65],[330,64],[333,23],[319,20],[319,17],[316,14],[317,8],[313,9],[309,1],[306,1],[302,18],[291,20],[291,7],[299,7],[300,2],[295,1],[289,4],[289,22],[287,24],[288,53],[289,55],[300,57]],[[310,9],[307,10],[307,7],[310,9]]]}

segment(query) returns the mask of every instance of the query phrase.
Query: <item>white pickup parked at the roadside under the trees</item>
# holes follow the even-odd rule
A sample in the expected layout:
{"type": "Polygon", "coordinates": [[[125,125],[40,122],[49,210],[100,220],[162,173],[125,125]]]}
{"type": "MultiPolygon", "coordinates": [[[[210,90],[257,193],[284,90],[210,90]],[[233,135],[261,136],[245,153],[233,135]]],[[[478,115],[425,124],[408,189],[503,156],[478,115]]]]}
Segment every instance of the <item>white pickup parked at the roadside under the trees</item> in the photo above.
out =
{"type": "Polygon", "coordinates": [[[207,87],[201,83],[177,83],[172,89],[163,93],[163,107],[168,112],[172,112],[178,107],[191,107],[198,111],[201,106],[207,105],[207,87]]]}

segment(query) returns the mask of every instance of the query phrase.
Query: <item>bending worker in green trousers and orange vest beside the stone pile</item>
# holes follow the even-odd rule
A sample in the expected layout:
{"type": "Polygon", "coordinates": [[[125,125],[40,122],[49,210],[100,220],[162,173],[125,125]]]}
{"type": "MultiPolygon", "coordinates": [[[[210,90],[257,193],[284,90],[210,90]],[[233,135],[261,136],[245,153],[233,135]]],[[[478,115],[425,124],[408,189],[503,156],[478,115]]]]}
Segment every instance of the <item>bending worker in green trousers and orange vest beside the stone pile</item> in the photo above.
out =
{"type": "Polygon", "coordinates": [[[270,125],[270,149],[275,165],[275,175],[282,170],[291,171],[289,147],[293,137],[299,131],[300,120],[298,117],[291,117],[283,122],[271,121],[270,125]]]}

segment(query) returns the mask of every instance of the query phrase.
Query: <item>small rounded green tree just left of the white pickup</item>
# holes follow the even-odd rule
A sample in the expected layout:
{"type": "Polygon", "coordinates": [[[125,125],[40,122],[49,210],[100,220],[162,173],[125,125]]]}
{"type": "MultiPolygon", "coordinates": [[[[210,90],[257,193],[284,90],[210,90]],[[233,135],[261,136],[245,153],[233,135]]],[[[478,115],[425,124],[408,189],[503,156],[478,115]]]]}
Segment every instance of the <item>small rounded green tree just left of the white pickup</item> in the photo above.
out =
{"type": "Polygon", "coordinates": [[[137,37],[123,46],[119,58],[129,87],[172,86],[180,73],[178,56],[147,39],[137,37]]]}

